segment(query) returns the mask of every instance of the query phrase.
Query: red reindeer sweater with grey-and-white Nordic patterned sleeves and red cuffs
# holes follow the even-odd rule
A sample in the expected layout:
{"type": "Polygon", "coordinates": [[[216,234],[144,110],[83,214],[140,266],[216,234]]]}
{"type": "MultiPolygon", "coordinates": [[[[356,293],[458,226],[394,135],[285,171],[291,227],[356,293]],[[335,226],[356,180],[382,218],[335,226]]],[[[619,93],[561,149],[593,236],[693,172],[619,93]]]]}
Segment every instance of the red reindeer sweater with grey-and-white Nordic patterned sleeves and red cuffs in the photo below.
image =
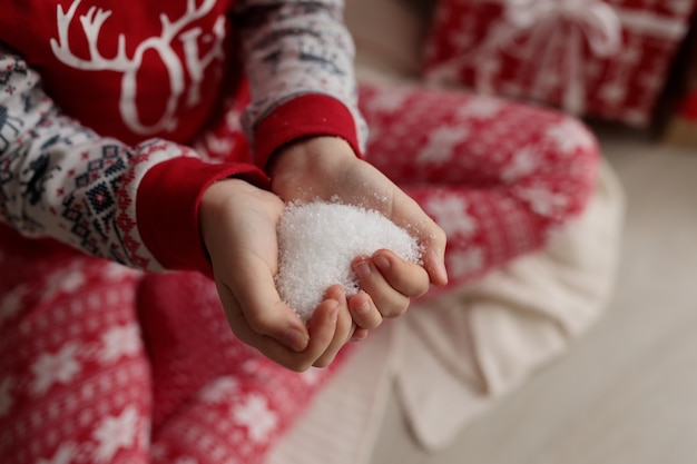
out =
{"type": "Polygon", "coordinates": [[[6,1],[0,221],[140,269],[209,274],[197,217],[207,186],[266,185],[268,157],[302,137],[361,151],[342,10],[340,0],[6,1]],[[205,161],[192,142],[245,76],[254,159],[205,161]]]}

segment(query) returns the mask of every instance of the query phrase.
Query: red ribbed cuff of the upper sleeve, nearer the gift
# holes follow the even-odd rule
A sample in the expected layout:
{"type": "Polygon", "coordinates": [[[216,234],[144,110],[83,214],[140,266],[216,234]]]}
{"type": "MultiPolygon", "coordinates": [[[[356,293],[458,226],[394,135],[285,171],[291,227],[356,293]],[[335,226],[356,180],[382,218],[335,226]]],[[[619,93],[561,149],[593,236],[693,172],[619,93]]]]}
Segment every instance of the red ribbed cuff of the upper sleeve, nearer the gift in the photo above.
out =
{"type": "Polygon", "coordinates": [[[356,124],[348,108],[333,97],[310,93],[281,105],[256,126],[256,165],[266,169],[268,159],[282,146],[320,136],[343,138],[361,156],[356,124]]]}

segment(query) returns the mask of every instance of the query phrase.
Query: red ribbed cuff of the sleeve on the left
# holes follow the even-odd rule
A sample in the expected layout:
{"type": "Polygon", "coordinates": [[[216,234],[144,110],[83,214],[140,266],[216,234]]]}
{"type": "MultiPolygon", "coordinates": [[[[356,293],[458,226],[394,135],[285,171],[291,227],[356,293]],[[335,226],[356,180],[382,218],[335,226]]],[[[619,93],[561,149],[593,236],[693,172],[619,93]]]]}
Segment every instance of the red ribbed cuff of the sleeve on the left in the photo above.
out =
{"type": "Polygon", "coordinates": [[[144,245],[166,269],[213,272],[198,226],[198,206],[216,180],[240,177],[266,187],[267,178],[252,165],[210,165],[198,158],[175,158],[151,167],[138,188],[136,216],[144,245]]]}

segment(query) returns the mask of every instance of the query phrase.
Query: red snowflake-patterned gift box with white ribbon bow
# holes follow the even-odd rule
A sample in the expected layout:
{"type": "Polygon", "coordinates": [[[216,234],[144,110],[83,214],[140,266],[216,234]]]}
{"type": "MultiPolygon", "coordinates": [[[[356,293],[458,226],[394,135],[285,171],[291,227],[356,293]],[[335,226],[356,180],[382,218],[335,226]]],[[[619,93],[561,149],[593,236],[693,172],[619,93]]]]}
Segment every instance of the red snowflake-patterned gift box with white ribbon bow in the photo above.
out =
{"type": "Polygon", "coordinates": [[[440,0],[424,77],[646,127],[696,4],[440,0]]]}

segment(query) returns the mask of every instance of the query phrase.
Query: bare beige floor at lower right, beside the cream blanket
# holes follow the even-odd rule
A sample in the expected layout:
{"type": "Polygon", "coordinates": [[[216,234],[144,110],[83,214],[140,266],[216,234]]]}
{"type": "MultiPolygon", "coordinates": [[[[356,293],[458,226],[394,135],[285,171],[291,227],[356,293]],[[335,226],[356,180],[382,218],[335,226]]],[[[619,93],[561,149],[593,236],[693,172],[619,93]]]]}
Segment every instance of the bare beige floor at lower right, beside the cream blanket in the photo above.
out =
{"type": "Polygon", "coordinates": [[[598,134],[628,200],[609,313],[441,453],[392,404],[373,464],[697,463],[697,150],[598,134]]]}

